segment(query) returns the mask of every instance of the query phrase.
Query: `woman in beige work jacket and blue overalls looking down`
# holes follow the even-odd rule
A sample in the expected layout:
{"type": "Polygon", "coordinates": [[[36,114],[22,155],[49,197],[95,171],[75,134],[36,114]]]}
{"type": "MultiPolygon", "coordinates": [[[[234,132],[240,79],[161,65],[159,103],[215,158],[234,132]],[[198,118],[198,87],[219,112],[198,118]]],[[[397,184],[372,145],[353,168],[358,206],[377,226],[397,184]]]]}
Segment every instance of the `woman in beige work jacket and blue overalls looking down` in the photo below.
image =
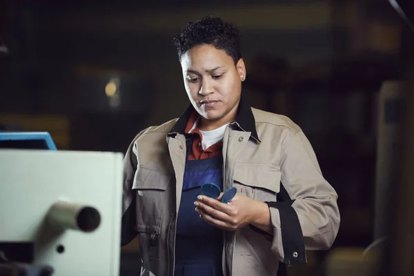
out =
{"type": "Polygon", "coordinates": [[[141,275],[281,275],[279,262],[330,248],[337,194],[302,130],[242,98],[237,28],[205,17],[175,46],[191,104],[140,132],[124,160],[122,243],[138,235],[141,275]],[[206,197],[206,183],[237,195],[206,197]]]}

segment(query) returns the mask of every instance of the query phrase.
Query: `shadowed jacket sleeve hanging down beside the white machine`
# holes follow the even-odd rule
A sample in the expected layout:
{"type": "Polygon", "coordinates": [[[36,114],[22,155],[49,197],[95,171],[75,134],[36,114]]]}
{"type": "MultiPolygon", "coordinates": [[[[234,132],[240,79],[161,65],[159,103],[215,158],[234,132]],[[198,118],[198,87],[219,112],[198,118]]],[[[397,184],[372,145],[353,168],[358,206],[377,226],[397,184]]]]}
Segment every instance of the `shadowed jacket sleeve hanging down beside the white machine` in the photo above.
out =
{"type": "Polygon", "coordinates": [[[122,193],[122,223],[121,223],[121,246],[129,244],[137,236],[135,230],[136,213],[135,213],[135,193],[132,190],[135,172],[137,170],[137,150],[135,141],[142,135],[142,132],[132,140],[126,155],[124,157],[124,181],[122,193]]]}

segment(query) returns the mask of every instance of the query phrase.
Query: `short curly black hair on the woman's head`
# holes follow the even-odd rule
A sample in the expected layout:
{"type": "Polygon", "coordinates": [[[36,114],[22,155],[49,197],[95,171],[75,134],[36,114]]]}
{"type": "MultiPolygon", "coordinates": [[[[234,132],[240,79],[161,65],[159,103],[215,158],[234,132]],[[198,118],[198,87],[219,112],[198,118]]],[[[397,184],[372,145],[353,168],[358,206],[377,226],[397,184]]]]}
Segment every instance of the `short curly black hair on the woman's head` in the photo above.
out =
{"type": "Polygon", "coordinates": [[[212,45],[224,50],[235,64],[242,58],[239,30],[219,17],[208,15],[198,21],[188,22],[181,33],[175,35],[173,42],[180,61],[188,50],[199,45],[212,45]]]}

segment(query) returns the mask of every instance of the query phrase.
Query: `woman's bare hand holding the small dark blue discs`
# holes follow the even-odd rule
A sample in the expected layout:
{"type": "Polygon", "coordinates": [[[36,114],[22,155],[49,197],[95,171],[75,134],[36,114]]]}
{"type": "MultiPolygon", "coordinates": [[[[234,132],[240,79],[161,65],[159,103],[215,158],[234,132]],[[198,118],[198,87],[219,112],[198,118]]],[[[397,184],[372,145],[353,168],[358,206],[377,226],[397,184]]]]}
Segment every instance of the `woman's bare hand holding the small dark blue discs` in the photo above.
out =
{"type": "Polygon", "coordinates": [[[195,210],[208,224],[224,230],[236,230],[253,224],[271,233],[267,204],[239,194],[226,204],[220,201],[222,195],[217,199],[199,195],[194,202],[197,206],[195,210]]]}

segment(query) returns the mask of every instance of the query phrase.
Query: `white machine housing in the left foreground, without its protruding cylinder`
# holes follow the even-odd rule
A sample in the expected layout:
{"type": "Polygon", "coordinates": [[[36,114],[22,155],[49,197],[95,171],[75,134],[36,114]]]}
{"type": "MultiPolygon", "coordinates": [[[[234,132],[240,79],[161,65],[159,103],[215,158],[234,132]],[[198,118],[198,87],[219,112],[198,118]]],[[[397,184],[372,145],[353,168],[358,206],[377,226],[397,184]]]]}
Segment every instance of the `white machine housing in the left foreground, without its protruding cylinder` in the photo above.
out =
{"type": "Polygon", "coordinates": [[[0,150],[0,243],[32,242],[33,264],[52,266],[54,276],[119,275],[122,159],[116,152],[0,150]],[[58,201],[97,210],[99,226],[54,227],[50,210],[58,201]]]}

